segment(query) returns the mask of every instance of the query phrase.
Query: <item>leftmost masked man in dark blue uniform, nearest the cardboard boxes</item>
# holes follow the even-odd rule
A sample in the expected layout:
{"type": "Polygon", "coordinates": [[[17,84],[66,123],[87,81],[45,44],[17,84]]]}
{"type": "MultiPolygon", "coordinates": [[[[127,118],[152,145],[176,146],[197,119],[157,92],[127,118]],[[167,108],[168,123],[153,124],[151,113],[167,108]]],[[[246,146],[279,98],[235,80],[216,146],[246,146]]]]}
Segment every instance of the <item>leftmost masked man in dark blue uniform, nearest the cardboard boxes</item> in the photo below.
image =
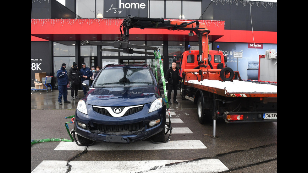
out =
{"type": "Polygon", "coordinates": [[[66,68],[66,64],[63,63],[61,64],[61,68],[57,71],[59,105],[62,105],[62,96],[63,96],[64,103],[70,103],[70,101],[67,100],[67,84],[69,84],[69,78],[68,78],[68,74],[65,68],[66,68]]]}

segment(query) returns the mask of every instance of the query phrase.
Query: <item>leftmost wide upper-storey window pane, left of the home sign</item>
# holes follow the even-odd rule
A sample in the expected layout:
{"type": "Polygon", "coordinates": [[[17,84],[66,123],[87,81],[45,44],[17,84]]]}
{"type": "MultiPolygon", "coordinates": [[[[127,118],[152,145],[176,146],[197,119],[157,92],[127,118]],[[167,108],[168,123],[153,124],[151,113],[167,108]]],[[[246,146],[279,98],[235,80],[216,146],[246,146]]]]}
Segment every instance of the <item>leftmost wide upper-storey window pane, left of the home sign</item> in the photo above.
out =
{"type": "Polygon", "coordinates": [[[76,18],[96,18],[95,0],[76,0],[76,18]]]}

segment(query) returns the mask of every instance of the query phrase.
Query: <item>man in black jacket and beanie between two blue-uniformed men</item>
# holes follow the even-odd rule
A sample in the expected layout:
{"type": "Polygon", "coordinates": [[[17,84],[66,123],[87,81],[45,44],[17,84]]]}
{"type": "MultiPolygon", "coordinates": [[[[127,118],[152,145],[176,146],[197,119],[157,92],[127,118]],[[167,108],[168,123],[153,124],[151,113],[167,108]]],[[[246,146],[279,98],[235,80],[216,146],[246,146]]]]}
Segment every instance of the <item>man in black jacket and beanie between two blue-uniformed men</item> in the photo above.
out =
{"type": "Polygon", "coordinates": [[[72,67],[69,69],[69,80],[71,81],[71,99],[80,99],[78,95],[78,84],[79,84],[79,70],[77,67],[77,63],[73,62],[72,67]],[[75,97],[74,97],[75,94],[75,97]]]}

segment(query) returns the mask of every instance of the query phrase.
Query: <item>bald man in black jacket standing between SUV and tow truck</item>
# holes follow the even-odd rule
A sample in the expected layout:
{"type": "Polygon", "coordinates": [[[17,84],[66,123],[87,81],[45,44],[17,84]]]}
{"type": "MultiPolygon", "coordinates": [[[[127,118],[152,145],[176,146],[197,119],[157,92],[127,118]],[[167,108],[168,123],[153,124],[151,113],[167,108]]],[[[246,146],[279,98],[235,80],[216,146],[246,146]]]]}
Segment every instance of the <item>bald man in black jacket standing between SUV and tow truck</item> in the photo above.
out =
{"type": "Polygon", "coordinates": [[[178,91],[179,80],[182,80],[180,77],[179,69],[176,67],[176,63],[173,62],[172,66],[167,70],[165,79],[168,81],[168,104],[171,105],[171,92],[173,90],[173,103],[179,103],[176,101],[176,95],[178,91]]]}

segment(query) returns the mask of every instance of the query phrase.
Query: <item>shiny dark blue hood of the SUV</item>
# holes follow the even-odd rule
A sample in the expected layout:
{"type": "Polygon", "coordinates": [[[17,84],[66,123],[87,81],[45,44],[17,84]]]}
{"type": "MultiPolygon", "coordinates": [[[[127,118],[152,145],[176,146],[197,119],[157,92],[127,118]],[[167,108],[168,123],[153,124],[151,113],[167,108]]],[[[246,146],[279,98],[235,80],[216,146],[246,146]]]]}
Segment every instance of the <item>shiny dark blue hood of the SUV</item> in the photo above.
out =
{"type": "Polygon", "coordinates": [[[90,88],[85,103],[96,106],[131,106],[151,103],[161,97],[157,87],[90,88]]]}

